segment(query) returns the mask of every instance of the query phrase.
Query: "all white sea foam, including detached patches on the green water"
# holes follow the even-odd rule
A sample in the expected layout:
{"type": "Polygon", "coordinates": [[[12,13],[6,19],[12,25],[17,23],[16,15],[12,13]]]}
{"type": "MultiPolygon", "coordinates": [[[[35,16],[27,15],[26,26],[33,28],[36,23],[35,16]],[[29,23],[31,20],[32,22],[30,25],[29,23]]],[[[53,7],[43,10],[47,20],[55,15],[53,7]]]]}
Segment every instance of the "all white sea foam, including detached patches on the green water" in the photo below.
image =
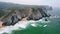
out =
{"type": "MultiPolygon", "coordinates": [[[[25,29],[29,24],[31,24],[33,27],[37,27],[37,25],[35,24],[35,22],[39,22],[39,21],[19,21],[18,23],[16,23],[14,26],[6,26],[0,29],[0,34],[6,32],[6,33],[11,33],[12,30],[22,30],[20,28],[25,29]]],[[[43,22],[42,20],[40,20],[40,22],[43,22]]],[[[46,27],[47,25],[43,26],[46,27]]]]}

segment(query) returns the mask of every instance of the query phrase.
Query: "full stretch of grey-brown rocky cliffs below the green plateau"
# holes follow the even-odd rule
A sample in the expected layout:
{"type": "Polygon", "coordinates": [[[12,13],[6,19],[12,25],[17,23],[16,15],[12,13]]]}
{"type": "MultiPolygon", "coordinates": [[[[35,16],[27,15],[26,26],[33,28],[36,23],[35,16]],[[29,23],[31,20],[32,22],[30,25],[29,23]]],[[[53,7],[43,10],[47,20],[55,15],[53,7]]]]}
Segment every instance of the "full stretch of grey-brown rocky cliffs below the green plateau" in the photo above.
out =
{"type": "Polygon", "coordinates": [[[4,25],[14,25],[20,19],[24,17],[28,17],[27,20],[39,20],[43,17],[49,17],[50,15],[47,14],[47,9],[43,8],[27,8],[25,10],[14,10],[14,12],[4,20],[4,25]]]}

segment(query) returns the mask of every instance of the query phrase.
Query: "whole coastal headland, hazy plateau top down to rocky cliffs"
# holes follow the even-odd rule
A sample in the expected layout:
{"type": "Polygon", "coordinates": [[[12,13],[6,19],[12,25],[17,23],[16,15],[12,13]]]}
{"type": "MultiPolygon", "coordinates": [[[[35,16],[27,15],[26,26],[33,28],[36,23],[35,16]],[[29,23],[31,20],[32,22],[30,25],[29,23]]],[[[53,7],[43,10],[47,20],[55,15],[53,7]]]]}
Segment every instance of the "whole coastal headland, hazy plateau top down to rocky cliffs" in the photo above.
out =
{"type": "Polygon", "coordinates": [[[49,17],[50,14],[47,14],[47,11],[52,10],[52,7],[47,5],[21,5],[2,2],[0,7],[3,11],[8,12],[1,17],[4,25],[14,25],[24,17],[28,17],[27,20],[39,20],[43,17],[49,17]]]}

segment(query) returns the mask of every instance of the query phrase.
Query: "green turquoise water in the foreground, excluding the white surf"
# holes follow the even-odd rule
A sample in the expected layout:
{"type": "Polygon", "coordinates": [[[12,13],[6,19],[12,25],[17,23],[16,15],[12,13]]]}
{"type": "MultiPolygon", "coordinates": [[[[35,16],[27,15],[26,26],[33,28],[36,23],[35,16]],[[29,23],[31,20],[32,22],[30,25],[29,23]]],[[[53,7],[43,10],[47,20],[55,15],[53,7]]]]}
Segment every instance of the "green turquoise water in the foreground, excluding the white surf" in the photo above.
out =
{"type": "Polygon", "coordinates": [[[36,22],[37,27],[28,25],[25,29],[13,30],[11,34],[60,34],[60,18],[48,18],[48,20],[49,23],[36,22]]]}

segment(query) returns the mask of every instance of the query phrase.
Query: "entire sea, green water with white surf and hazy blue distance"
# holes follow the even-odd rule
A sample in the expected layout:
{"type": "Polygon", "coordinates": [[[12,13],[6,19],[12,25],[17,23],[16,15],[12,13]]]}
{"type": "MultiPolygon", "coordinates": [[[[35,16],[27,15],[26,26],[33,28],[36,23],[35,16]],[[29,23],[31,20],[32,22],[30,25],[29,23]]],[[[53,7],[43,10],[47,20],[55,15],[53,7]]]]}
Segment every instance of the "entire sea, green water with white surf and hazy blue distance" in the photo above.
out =
{"type": "Polygon", "coordinates": [[[51,17],[48,21],[45,18],[39,21],[20,21],[14,26],[7,26],[0,29],[0,34],[60,34],[60,10],[59,8],[50,11],[51,17]]]}

